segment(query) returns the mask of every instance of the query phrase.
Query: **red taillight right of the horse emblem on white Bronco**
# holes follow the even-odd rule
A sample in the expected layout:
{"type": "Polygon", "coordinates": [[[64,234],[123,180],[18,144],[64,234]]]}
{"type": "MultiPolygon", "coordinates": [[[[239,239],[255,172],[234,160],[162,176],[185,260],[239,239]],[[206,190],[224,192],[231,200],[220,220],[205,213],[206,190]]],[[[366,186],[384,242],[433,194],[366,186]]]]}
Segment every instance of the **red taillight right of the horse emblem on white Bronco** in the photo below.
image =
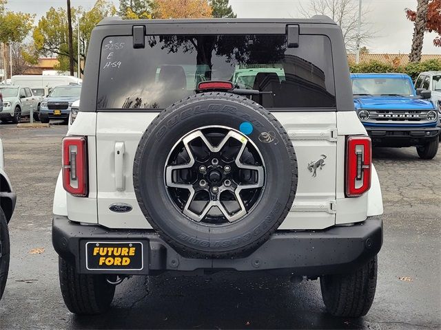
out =
{"type": "Polygon", "coordinates": [[[350,136],[346,148],[346,196],[357,197],[371,188],[371,138],[350,136]]]}

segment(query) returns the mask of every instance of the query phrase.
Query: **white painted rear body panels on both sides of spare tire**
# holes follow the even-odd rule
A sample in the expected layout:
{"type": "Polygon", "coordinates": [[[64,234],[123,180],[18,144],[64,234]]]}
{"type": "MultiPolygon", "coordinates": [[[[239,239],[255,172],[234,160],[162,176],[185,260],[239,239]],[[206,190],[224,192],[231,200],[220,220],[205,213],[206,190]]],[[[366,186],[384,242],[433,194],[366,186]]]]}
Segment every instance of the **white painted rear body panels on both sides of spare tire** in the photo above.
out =
{"type": "MultiPolygon", "coordinates": [[[[66,194],[62,183],[57,181],[54,213],[63,214],[67,210],[72,221],[99,223],[107,228],[152,228],[136,201],[132,168],[139,140],[156,115],[158,113],[79,112],[68,135],[88,137],[90,193],[88,198],[73,197],[66,194]],[[123,157],[116,157],[115,151],[121,151],[122,146],[123,157]],[[63,195],[67,204],[64,209],[63,195]],[[133,209],[115,213],[109,210],[112,203],[127,203],[133,209]]],[[[361,197],[345,197],[346,135],[366,134],[355,112],[278,112],[274,115],[289,133],[298,160],[296,199],[279,229],[320,230],[336,223],[364,221],[368,215],[382,212],[375,168],[369,192],[361,197]],[[307,165],[321,155],[327,155],[325,166],[313,177],[307,165]]]]}

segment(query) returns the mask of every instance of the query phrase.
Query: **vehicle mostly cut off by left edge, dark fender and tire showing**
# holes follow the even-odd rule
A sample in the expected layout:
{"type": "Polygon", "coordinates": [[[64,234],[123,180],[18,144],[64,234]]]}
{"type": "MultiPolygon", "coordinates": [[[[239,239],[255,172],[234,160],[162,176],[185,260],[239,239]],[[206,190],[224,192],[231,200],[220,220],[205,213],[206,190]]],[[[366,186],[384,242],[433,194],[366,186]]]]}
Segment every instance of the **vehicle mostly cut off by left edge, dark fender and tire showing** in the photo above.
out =
{"type": "Polygon", "coordinates": [[[8,279],[10,243],[8,223],[14,212],[17,195],[12,190],[3,162],[3,144],[0,139],[0,299],[8,279]]]}

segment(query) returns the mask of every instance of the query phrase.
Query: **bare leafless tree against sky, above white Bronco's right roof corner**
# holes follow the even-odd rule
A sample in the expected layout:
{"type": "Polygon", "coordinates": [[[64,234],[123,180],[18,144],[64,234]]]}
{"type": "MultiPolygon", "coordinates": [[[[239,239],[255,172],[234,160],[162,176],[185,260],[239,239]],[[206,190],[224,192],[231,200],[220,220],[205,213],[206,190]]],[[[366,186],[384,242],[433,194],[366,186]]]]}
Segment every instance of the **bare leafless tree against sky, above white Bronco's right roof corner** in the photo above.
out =
{"type": "MultiPolygon", "coordinates": [[[[358,1],[353,0],[310,0],[307,8],[299,7],[305,17],[327,15],[342,29],[343,41],[347,52],[355,52],[358,37],[358,1]]],[[[362,10],[360,43],[367,43],[375,36],[365,17],[368,10],[362,10]]]]}

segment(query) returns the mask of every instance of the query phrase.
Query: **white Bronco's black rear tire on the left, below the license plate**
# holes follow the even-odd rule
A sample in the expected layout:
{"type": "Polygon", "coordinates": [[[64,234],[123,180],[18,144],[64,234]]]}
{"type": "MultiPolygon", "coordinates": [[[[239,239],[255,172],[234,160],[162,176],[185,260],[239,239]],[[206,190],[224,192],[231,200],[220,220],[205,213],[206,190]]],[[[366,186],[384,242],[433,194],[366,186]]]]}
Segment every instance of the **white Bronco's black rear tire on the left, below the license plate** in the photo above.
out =
{"type": "Polygon", "coordinates": [[[106,281],[105,274],[79,274],[59,258],[59,277],[64,303],[72,313],[101,314],[110,307],[115,286],[106,281]]]}

